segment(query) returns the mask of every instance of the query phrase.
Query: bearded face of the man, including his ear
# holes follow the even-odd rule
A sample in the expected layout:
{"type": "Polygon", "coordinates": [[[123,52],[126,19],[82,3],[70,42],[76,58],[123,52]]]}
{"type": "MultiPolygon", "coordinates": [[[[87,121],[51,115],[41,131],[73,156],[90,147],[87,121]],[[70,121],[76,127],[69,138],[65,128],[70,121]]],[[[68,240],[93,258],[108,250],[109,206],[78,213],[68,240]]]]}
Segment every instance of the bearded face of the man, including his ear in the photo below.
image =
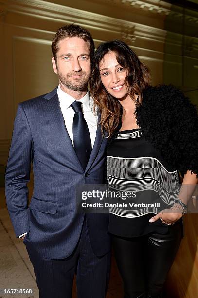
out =
{"type": "Polygon", "coordinates": [[[56,57],[52,63],[60,85],[64,89],[86,91],[91,71],[88,42],[79,37],[66,37],[59,41],[56,57]]]}

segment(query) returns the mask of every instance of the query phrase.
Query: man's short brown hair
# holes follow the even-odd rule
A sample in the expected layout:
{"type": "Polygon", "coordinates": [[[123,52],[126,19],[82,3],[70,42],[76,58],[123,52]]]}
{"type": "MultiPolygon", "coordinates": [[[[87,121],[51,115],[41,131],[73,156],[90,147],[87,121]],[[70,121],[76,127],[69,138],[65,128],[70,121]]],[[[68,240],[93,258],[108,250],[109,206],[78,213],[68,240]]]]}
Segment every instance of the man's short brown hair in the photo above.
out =
{"type": "Polygon", "coordinates": [[[79,38],[83,39],[84,41],[88,42],[89,51],[90,51],[90,60],[91,60],[91,64],[92,64],[93,54],[94,54],[94,50],[95,50],[93,38],[88,30],[86,30],[85,28],[82,28],[78,25],[74,25],[74,24],[61,27],[56,32],[56,34],[53,38],[53,41],[52,41],[52,53],[53,53],[55,62],[57,61],[56,54],[58,52],[58,43],[60,40],[67,38],[67,37],[70,37],[70,38],[79,37],[79,38]]]}

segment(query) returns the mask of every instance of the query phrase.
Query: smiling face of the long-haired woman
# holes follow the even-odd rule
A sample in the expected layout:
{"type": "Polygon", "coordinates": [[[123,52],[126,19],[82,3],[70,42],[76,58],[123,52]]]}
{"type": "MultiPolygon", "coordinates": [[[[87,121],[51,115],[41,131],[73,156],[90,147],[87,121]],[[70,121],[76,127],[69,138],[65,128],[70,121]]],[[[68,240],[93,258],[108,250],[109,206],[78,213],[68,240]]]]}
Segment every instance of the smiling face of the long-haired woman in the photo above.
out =
{"type": "Polygon", "coordinates": [[[124,69],[116,59],[115,52],[108,52],[100,61],[101,81],[112,96],[122,99],[128,95],[125,86],[127,70],[124,69]]]}

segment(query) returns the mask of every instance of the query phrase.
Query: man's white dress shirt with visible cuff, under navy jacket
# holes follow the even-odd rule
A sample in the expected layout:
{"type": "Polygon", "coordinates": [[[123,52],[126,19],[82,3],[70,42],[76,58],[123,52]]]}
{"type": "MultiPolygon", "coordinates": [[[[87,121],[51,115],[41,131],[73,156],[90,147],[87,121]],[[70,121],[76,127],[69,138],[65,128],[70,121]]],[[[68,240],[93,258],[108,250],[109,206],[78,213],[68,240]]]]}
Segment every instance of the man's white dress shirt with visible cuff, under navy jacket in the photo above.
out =
{"type": "MultiPolygon", "coordinates": [[[[65,121],[65,126],[68,131],[68,134],[72,140],[73,144],[73,117],[75,112],[73,111],[71,104],[76,100],[71,95],[65,93],[61,88],[60,85],[57,89],[58,99],[60,103],[60,109],[63,114],[63,118],[65,121]]],[[[84,118],[87,122],[88,129],[90,132],[90,138],[91,138],[91,147],[93,148],[93,144],[95,142],[95,136],[96,136],[96,130],[97,130],[97,110],[96,114],[93,112],[93,99],[90,97],[89,92],[85,94],[81,99],[76,100],[82,102],[82,111],[84,118]]],[[[19,236],[21,238],[22,236],[26,235],[26,233],[19,236]]]]}

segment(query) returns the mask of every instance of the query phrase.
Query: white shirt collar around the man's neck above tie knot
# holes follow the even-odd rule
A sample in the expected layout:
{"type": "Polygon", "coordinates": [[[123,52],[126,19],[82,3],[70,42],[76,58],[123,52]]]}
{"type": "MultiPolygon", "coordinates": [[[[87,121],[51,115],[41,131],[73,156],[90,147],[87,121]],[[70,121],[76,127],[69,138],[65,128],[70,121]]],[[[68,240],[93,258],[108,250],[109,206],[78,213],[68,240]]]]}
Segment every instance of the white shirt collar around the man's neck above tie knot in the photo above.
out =
{"type": "MultiPolygon", "coordinates": [[[[66,109],[68,109],[71,104],[76,100],[71,95],[65,93],[61,88],[60,85],[58,85],[57,88],[57,94],[60,101],[60,104],[64,106],[66,109]]],[[[79,99],[80,102],[83,104],[83,110],[90,110],[92,107],[92,98],[90,98],[89,91],[83,96],[81,99],[79,99]]]]}

